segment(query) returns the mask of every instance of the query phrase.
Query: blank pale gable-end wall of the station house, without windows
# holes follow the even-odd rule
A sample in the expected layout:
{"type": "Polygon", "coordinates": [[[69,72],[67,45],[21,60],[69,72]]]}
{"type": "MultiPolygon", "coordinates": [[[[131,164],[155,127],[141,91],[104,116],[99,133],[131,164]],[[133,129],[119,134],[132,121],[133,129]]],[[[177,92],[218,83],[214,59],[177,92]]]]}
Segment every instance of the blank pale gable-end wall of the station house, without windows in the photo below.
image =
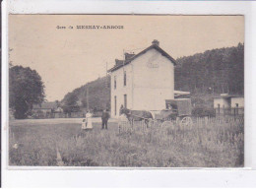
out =
{"type": "Polygon", "coordinates": [[[135,59],[134,101],[135,110],[161,110],[165,99],[174,98],[174,65],[156,49],[135,59]]]}

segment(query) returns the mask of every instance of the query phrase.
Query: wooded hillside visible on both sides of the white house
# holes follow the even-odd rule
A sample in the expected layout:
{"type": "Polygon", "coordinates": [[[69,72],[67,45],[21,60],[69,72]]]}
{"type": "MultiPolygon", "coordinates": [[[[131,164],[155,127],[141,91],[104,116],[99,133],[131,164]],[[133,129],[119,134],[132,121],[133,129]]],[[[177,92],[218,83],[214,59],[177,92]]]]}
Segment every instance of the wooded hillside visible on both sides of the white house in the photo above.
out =
{"type": "MultiPolygon", "coordinates": [[[[176,62],[175,90],[191,92],[192,103],[212,104],[215,95],[244,93],[244,45],[241,43],[184,56],[176,62]]],[[[87,107],[88,102],[92,109],[110,108],[110,77],[98,78],[75,89],[61,102],[72,95],[78,97],[82,107],[87,107]]]]}

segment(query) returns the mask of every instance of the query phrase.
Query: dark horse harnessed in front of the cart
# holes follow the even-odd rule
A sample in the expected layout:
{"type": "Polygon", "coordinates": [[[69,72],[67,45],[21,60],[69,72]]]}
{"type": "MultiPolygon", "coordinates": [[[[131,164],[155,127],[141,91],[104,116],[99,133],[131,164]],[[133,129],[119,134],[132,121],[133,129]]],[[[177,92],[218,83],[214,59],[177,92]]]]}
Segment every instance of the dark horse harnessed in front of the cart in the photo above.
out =
{"type": "Polygon", "coordinates": [[[120,108],[120,115],[125,114],[130,124],[133,127],[134,121],[144,120],[147,128],[149,127],[150,119],[153,119],[153,115],[150,111],[146,110],[130,110],[128,108],[120,108]]]}

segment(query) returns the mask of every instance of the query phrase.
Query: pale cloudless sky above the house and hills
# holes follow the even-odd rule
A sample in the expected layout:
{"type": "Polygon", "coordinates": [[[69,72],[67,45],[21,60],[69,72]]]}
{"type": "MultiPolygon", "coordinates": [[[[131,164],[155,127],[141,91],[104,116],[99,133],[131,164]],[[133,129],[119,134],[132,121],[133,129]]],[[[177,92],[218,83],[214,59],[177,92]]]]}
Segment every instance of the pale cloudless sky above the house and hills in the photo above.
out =
{"type": "Polygon", "coordinates": [[[48,101],[103,77],[154,39],[174,59],[244,42],[243,16],[10,15],[9,61],[40,75],[48,101]],[[57,29],[57,27],[66,29],[57,29]],[[70,29],[69,27],[73,27],[70,29]],[[77,29],[121,26],[122,29],[77,29]],[[106,64],[107,63],[107,64],[106,64]]]}

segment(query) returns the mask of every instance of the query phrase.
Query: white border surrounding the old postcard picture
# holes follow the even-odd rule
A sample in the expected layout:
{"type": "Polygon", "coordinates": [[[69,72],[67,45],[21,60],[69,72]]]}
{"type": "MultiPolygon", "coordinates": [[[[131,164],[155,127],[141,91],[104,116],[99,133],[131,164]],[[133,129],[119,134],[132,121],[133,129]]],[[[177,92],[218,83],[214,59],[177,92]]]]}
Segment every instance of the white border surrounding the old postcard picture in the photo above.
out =
{"type": "Polygon", "coordinates": [[[256,21],[255,2],[183,2],[183,1],[82,1],[23,0],[2,4],[2,182],[4,187],[142,187],[142,186],[256,186],[256,21]],[[171,15],[244,15],[245,16],[245,168],[138,169],[85,167],[20,167],[7,165],[8,137],[8,14],[171,14],[171,15]],[[19,168],[19,167],[18,167],[19,168]],[[66,170],[63,170],[63,169],[66,170]],[[27,170],[21,170],[27,169],[27,170]],[[41,170],[54,169],[54,170],[41,170]],[[90,169],[90,168],[88,168],[90,169]]]}

